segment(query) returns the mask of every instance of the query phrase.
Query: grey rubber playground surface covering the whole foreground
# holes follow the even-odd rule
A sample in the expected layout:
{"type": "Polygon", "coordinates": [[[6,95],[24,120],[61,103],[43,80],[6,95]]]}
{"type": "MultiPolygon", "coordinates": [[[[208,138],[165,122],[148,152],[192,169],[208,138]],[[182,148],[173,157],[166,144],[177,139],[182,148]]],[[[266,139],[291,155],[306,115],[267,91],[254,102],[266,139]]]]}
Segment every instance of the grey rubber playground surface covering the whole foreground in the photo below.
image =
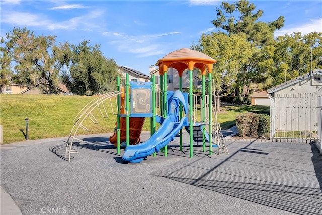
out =
{"type": "Polygon", "coordinates": [[[109,136],[82,136],[70,162],[67,138],[2,145],[1,187],[22,214],[322,214],[315,144],[227,140],[229,154],[194,145],[190,158],[184,133],[183,152],[175,138],[132,164],[109,136]]]}

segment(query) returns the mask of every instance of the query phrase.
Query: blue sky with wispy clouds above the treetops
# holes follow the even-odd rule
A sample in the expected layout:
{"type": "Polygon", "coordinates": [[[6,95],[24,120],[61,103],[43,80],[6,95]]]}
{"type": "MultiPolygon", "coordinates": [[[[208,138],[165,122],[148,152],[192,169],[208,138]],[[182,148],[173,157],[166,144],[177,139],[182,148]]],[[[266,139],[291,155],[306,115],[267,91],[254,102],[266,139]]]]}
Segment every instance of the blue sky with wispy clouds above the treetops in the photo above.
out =
{"type": "MultiPolygon", "coordinates": [[[[0,36],[14,27],[35,35],[56,35],[56,42],[101,45],[107,58],[142,73],[168,53],[190,48],[202,33],[216,31],[222,1],[20,1],[1,0],[0,36]]],[[[233,3],[234,1],[224,1],[233,3]]],[[[322,1],[250,1],[261,21],[285,17],[275,36],[322,32],[322,1]]]]}

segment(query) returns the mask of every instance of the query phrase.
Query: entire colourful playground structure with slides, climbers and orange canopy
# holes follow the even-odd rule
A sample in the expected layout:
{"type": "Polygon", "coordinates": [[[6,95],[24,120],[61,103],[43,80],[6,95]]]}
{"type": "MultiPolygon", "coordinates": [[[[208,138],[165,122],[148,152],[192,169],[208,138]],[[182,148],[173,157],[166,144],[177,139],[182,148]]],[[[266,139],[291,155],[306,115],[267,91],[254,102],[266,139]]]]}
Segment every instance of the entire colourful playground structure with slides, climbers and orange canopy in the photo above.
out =
{"type": "MultiPolygon", "coordinates": [[[[185,128],[190,135],[190,157],[193,157],[193,142],[202,143],[203,152],[206,152],[206,142],[209,142],[209,154],[228,153],[224,144],[223,135],[220,133],[220,125],[217,121],[216,106],[212,105],[212,69],[216,60],[211,57],[190,49],[180,49],[166,55],[158,60],[161,76],[160,89],[155,87],[155,75],[152,82],[129,82],[126,76],[125,86],[120,85],[118,78],[117,91],[107,93],[96,98],[86,105],[74,119],[66,144],[65,158],[70,161],[70,154],[78,153],[72,149],[74,140],[81,141],[75,137],[79,128],[88,130],[82,125],[86,118],[97,123],[92,114],[95,108],[99,108],[102,117],[107,118],[104,102],[112,98],[116,101],[117,115],[115,133],[110,136],[110,142],[117,147],[120,154],[121,143],[126,141],[125,152],[122,156],[124,161],[139,163],[147,156],[156,152],[164,152],[167,156],[167,145],[179,135],[180,150],[182,151],[182,129],[185,128]],[[175,68],[179,75],[179,90],[167,91],[168,68],[175,68]],[[197,96],[193,94],[193,70],[197,68],[202,76],[202,94],[200,104],[197,96]],[[187,71],[188,70],[188,71],[187,71]],[[182,93],[182,75],[184,71],[189,73],[189,93],[182,93]],[[206,73],[208,71],[208,95],[206,95],[206,73]],[[200,116],[198,115],[200,109],[200,116]],[[101,110],[104,110],[102,112],[101,110]],[[157,114],[158,110],[158,114],[157,114]],[[214,116],[214,117],[213,117],[214,116]],[[145,117],[151,117],[151,137],[139,144],[140,134],[145,117]],[[214,118],[214,119],[213,119],[214,118]],[[156,131],[156,123],[160,127],[156,131]],[[215,148],[215,150],[213,150],[215,148]]],[[[215,96],[215,95],[214,95],[215,96]]],[[[216,104],[216,103],[215,103],[216,104]]]]}

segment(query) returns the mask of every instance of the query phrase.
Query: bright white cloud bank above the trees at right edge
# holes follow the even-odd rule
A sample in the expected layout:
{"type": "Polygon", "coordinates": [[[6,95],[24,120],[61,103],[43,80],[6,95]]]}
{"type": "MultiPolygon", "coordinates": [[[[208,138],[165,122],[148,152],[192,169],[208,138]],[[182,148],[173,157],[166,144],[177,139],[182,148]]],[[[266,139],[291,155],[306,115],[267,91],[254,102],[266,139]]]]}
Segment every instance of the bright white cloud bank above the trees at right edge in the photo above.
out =
{"type": "Polygon", "coordinates": [[[285,34],[292,34],[294,32],[301,32],[302,35],[307,35],[315,31],[322,32],[322,17],[316,20],[310,20],[309,23],[304,23],[295,27],[276,30],[274,36],[284,36],[285,34]]]}

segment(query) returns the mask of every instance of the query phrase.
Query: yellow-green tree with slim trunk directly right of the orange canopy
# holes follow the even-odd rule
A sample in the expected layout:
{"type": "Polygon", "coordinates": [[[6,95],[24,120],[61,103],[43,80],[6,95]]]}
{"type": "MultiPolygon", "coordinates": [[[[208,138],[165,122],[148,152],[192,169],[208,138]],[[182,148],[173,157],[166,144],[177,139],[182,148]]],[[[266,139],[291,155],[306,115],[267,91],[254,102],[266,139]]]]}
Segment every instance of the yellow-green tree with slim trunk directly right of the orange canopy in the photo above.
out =
{"type": "Polygon", "coordinates": [[[211,32],[208,35],[203,34],[199,43],[191,48],[217,60],[212,77],[215,82],[216,106],[220,111],[219,97],[222,87],[230,85],[243,70],[243,65],[252,56],[251,45],[243,33],[228,36],[222,32],[211,32]]]}

